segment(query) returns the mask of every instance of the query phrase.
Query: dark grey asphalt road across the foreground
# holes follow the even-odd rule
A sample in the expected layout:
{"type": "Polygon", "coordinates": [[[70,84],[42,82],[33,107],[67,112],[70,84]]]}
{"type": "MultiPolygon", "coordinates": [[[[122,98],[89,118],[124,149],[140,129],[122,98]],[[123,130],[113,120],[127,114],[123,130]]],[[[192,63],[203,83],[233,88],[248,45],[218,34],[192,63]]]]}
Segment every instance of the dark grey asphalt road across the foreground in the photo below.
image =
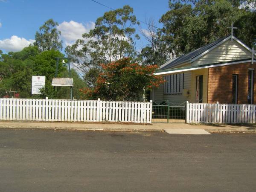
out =
{"type": "Polygon", "coordinates": [[[256,191],[256,134],[0,129],[0,191],[256,191]]]}

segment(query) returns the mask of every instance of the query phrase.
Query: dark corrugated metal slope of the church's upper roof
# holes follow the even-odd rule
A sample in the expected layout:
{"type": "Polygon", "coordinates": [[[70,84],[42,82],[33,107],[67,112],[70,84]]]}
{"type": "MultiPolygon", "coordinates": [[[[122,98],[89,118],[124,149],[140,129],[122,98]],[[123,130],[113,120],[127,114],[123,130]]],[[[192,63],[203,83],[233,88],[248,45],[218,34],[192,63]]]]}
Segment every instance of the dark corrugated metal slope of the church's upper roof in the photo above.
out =
{"type": "MultiPolygon", "coordinates": [[[[230,35],[228,35],[230,36],[230,35]]],[[[227,36],[227,37],[228,37],[227,36]]],[[[162,65],[161,69],[164,70],[164,69],[168,69],[170,67],[174,67],[178,64],[182,64],[184,63],[185,61],[189,61],[191,60],[192,58],[195,58],[197,55],[200,55],[201,53],[207,51],[208,49],[210,49],[211,47],[215,46],[216,44],[220,43],[221,41],[223,41],[225,38],[227,37],[224,37],[224,38],[221,38],[219,39],[218,41],[215,41],[211,44],[207,44],[203,47],[200,47],[198,49],[196,49],[195,51],[192,51],[192,52],[189,52],[185,55],[181,55],[180,57],[177,57],[175,59],[172,59],[170,61],[167,61],[165,64],[162,65]]]]}

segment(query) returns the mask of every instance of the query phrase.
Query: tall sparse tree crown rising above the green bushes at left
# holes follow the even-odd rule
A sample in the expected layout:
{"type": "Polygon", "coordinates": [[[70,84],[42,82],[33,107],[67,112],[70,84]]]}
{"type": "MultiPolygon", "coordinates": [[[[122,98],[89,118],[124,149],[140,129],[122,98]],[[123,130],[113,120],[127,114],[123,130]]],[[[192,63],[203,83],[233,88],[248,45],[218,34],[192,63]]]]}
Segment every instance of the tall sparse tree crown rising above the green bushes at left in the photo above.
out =
{"type": "Polygon", "coordinates": [[[39,47],[41,51],[49,51],[51,49],[61,50],[62,41],[59,40],[61,32],[57,30],[58,23],[52,19],[47,20],[43,26],[39,28],[39,32],[35,33],[34,45],[39,47]]]}

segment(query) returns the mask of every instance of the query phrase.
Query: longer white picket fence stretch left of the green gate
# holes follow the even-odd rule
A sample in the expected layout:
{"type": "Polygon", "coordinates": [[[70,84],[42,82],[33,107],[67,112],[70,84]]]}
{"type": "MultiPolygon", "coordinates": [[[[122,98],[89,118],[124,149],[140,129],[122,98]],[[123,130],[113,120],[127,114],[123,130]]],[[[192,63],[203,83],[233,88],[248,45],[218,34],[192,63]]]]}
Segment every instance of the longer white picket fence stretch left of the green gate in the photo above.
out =
{"type": "Polygon", "coordinates": [[[152,102],[0,99],[0,120],[151,123],[152,102]]]}

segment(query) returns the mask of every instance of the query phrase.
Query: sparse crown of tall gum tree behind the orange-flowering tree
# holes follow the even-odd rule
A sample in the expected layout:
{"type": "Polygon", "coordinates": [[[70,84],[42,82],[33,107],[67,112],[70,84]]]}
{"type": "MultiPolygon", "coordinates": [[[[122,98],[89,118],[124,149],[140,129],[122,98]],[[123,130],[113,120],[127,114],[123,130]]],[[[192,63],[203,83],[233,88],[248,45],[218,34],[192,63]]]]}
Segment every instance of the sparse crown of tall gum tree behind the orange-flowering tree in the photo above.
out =
{"type": "Polygon", "coordinates": [[[77,40],[74,45],[67,46],[65,51],[84,74],[89,68],[99,68],[102,63],[124,57],[135,58],[134,38],[138,38],[135,35],[136,24],[139,23],[130,6],[105,12],[96,20],[95,28],[83,34],[86,40],[77,40]]]}

